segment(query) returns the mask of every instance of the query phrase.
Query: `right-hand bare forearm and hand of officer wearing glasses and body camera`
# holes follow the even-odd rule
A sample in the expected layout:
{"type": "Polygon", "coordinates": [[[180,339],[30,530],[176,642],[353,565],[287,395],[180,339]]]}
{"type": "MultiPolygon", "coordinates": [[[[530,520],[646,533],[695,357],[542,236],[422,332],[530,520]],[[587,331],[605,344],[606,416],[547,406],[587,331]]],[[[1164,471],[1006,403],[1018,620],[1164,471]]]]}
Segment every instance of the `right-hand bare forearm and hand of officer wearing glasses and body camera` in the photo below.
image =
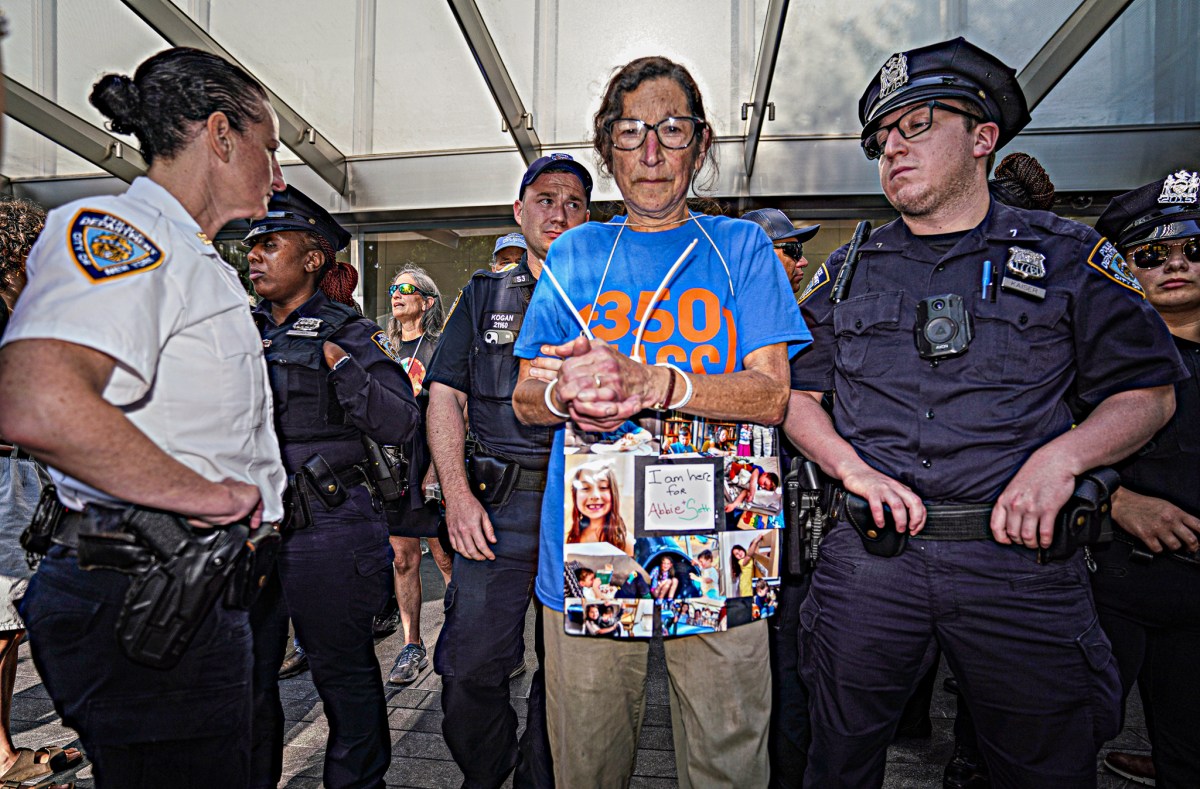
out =
{"type": "Polygon", "coordinates": [[[1030,456],[1008,483],[991,513],[997,542],[1045,548],[1055,516],[1070,499],[1075,477],[1116,463],[1142,446],[1175,412],[1175,389],[1156,386],[1118,392],[1030,456]]]}

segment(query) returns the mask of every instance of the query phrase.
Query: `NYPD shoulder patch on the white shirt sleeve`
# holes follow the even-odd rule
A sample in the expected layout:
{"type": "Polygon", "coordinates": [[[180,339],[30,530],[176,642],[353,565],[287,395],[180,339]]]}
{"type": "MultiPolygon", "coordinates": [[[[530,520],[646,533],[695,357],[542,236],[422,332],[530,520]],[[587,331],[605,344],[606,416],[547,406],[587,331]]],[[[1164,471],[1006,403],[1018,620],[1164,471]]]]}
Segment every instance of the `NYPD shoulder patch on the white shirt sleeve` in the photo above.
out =
{"type": "Polygon", "coordinates": [[[162,248],[144,233],[107,211],[80,209],[71,221],[67,243],[76,264],[92,283],[156,269],[162,248]]]}

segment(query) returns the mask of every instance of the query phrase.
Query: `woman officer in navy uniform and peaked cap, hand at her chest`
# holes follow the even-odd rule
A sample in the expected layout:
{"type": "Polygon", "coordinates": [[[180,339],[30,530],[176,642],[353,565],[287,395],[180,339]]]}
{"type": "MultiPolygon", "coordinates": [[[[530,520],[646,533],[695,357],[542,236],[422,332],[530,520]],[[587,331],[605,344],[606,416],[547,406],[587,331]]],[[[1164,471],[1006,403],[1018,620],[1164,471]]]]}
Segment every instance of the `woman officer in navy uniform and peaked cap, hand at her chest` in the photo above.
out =
{"type": "Polygon", "coordinates": [[[269,207],[246,259],[294,507],[253,612],[251,785],[275,787],[282,771],[290,618],[329,719],[324,785],[383,787],[391,737],[371,626],[391,589],[391,548],[364,436],[402,445],[420,412],[386,335],[354,306],[358,272],[335,259],[350,234],[294,187],[269,207]]]}

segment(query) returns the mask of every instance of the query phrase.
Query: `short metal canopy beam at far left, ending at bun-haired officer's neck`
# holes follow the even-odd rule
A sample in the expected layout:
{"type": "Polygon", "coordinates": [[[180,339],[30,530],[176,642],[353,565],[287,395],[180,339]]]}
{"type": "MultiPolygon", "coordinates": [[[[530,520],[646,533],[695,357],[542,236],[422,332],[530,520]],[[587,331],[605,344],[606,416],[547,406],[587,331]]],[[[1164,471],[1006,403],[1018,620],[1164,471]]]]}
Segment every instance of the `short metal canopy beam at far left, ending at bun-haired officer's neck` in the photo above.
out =
{"type": "Polygon", "coordinates": [[[14,120],[122,181],[145,175],[146,162],[138,149],[59,107],[7,74],[4,86],[8,94],[5,112],[14,120]]]}

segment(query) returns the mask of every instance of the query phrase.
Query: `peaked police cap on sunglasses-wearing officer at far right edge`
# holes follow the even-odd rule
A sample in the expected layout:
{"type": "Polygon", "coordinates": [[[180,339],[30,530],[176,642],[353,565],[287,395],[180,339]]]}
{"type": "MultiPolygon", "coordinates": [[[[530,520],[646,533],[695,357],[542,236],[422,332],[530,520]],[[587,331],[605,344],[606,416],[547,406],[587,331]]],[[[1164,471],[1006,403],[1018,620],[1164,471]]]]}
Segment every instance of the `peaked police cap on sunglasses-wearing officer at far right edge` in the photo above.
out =
{"type": "Polygon", "coordinates": [[[1096,229],[1118,247],[1200,235],[1200,173],[1178,170],[1118,194],[1096,229]]]}

